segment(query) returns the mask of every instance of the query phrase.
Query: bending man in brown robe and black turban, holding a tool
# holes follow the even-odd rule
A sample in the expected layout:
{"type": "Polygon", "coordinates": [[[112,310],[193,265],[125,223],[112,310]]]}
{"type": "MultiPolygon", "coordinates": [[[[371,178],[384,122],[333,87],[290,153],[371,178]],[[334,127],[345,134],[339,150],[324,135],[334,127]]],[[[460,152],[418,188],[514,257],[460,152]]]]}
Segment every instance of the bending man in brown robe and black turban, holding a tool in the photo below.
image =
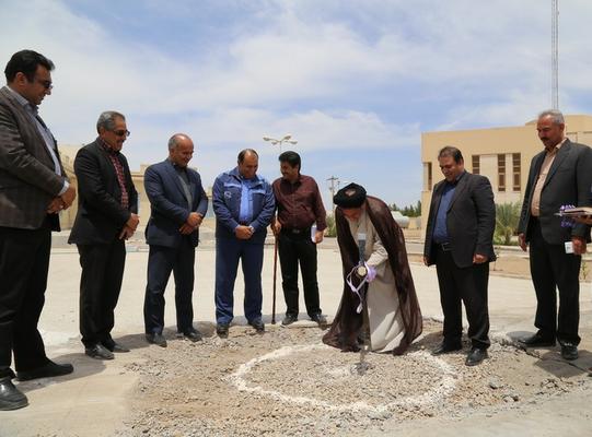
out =
{"type": "Polygon", "coordinates": [[[367,196],[359,185],[344,187],[333,201],[338,206],[335,222],[344,294],[323,342],[341,351],[359,351],[360,339],[365,336],[362,330],[368,329],[372,351],[401,355],[422,329],[403,232],[388,206],[367,196]],[[359,245],[363,248],[363,261],[359,245]],[[358,295],[351,286],[357,287],[362,281],[358,295]]]}

